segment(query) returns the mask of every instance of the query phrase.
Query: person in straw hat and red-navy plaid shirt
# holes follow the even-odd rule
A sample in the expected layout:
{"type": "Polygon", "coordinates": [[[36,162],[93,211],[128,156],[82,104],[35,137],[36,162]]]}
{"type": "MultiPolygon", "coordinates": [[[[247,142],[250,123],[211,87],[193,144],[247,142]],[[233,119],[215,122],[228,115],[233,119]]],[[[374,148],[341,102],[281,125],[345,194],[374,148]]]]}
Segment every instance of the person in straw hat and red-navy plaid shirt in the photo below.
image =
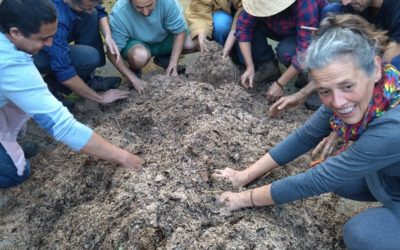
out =
{"type": "Polygon", "coordinates": [[[265,67],[266,73],[274,71],[274,67],[277,67],[273,63],[275,53],[266,38],[278,41],[277,57],[287,70],[267,92],[268,100],[274,102],[283,95],[285,85],[301,72],[301,57],[311,40],[310,30],[302,29],[302,26],[316,28],[327,1],[243,0],[242,3],[244,11],[236,25],[236,37],[246,64],[241,83],[246,88],[253,87],[253,61],[260,58],[269,62],[265,67]],[[251,53],[253,48],[258,51],[255,58],[251,53]]]}

